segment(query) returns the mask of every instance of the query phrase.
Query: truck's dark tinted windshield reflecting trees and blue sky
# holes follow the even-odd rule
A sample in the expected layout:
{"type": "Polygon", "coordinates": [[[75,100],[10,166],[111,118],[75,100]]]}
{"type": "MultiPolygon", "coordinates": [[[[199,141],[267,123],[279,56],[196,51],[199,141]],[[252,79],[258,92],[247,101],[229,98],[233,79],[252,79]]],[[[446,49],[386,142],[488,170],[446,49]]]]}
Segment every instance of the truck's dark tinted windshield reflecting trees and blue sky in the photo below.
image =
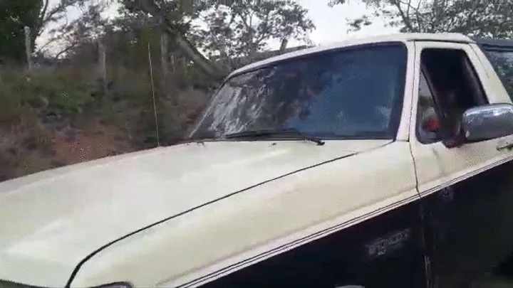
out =
{"type": "Polygon", "coordinates": [[[322,139],[393,139],[406,62],[403,43],[383,43],[292,58],[234,75],[213,95],[190,138],[294,129],[322,139]]]}

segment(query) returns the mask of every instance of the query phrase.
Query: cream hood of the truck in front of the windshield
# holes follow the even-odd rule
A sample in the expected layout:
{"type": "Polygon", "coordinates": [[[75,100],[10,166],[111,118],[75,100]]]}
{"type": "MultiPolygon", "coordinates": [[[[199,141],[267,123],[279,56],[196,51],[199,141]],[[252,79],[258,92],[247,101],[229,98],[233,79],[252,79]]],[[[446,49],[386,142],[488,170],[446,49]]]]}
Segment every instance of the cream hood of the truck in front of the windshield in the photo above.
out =
{"type": "Polygon", "coordinates": [[[123,235],[263,181],[388,142],[180,144],[0,183],[0,279],[63,287],[78,262],[123,235]]]}

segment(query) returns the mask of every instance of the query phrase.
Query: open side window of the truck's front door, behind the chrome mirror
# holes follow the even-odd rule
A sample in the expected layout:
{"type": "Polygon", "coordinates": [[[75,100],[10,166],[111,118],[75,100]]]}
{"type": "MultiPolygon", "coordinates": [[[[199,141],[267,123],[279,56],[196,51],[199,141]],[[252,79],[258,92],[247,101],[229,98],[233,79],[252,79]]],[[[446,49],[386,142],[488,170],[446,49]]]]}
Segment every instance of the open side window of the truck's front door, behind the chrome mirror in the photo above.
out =
{"type": "Polygon", "coordinates": [[[426,48],[420,54],[417,137],[423,144],[460,136],[463,112],[488,104],[464,50],[426,48]]]}

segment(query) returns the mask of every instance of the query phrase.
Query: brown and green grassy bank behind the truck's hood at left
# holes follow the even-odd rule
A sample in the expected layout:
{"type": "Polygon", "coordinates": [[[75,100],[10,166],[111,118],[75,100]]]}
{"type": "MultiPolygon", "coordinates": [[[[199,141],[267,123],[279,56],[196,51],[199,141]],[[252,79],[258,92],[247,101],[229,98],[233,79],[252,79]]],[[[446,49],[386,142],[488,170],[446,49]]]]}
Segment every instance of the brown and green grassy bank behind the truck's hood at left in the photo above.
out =
{"type": "MultiPolygon", "coordinates": [[[[87,67],[67,65],[30,78],[0,69],[0,181],[155,146],[147,71],[110,70],[114,84],[100,92],[87,67]]],[[[187,87],[156,92],[161,144],[172,144],[207,95],[187,87]]]]}

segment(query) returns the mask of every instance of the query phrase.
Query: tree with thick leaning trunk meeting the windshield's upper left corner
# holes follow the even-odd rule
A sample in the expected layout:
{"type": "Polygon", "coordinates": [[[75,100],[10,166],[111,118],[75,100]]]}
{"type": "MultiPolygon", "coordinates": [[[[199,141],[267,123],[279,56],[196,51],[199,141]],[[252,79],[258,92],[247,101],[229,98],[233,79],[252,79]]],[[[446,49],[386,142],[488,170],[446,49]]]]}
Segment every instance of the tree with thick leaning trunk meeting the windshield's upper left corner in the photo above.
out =
{"type": "MultiPolygon", "coordinates": [[[[212,60],[209,60],[202,53],[199,52],[198,46],[193,43],[192,35],[190,35],[190,19],[197,18],[202,11],[206,11],[212,6],[218,5],[219,1],[198,1],[199,4],[195,9],[189,11],[187,13],[186,7],[182,4],[186,1],[172,1],[172,0],[121,0],[123,4],[132,11],[142,11],[145,14],[150,14],[152,17],[155,17],[160,23],[161,29],[164,33],[167,33],[170,36],[169,41],[175,43],[177,49],[180,52],[187,56],[190,60],[192,60],[199,68],[202,69],[204,73],[209,75],[213,79],[221,80],[224,76],[229,73],[229,68],[220,65],[220,63],[214,63],[212,60]]],[[[249,36],[252,34],[253,41],[250,44],[251,48],[249,50],[259,50],[261,47],[261,43],[269,40],[272,37],[281,37],[281,40],[286,41],[288,37],[298,37],[300,35],[300,30],[294,28],[294,24],[301,26],[304,28],[304,31],[311,30],[313,28],[313,24],[311,21],[306,19],[306,10],[302,9],[299,5],[294,4],[291,0],[274,0],[274,1],[252,1],[252,0],[244,0],[244,1],[230,1],[233,2],[234,6],[230,7],[230,14],[228,16],[237,16],[237,13],[244,14],[249,13],[253,14],[256,18],[261,18],[262,20],[267,20],[266,16],[271,19],[269,21],[260,21],[260,23],[269,23],[269,24],[261,24],[260,31],[254,31],[255,27],[252,26],[250,28],[246,27],[246,33],[242,32],[244,27],[239,27],[237,32],[239,35],[244,34],[247,39],[251,38],[249,36]],[[248,7],[250,9],[248,9],[248,7]],[[244,12],[244,9],[247,11],[244,12]],[[283,27],[283,28],[274,28],[283,27]],[[259,40],[258,37],[262,37],[262,40],[259,40]],[[249,37],[249,38],[248,38],[249,37]]],[[[217,16],[210,17],[209,19],[212,21],[217,21],[215,19],[219,19],[217,16]]],[[[248,18],[245,16],[242,19],[249,20],[252,18],[251,16],[248,18]]],[[[222,20],[224,20],[224,16],[222,20]]],[[[241,18],[239,18],[241,19],[241,18]]],[[[239,22],[243,24],[243,21],[239,22]]],[[[215,34],[219,36],[220,30],[226,24],[225,22],[219,23],[219,31],[215,34]]],[[[234,23],[232,23],[234,24],[234,23]]],[[[249,27],[249,26],[248,26],[249,27]]],[[[258,26],[257,26],[258,27],[258,26]]],[[[232,27],[230,27],[232,28],[232,27]]],[[[222,32],[224,33],[224,31],[222,32]]],[[[210,34],[212,36],[214,34],[210,34]]],[[[212,38],[210,38],[212,40],[212,38]]],[[[231,39],[234,39],[232,36],[231,39]]],[[[207,41],[213,43],[212,41],[207,41]]],[[[239,42],[240,44],[240,42],[239,42]]]]}

